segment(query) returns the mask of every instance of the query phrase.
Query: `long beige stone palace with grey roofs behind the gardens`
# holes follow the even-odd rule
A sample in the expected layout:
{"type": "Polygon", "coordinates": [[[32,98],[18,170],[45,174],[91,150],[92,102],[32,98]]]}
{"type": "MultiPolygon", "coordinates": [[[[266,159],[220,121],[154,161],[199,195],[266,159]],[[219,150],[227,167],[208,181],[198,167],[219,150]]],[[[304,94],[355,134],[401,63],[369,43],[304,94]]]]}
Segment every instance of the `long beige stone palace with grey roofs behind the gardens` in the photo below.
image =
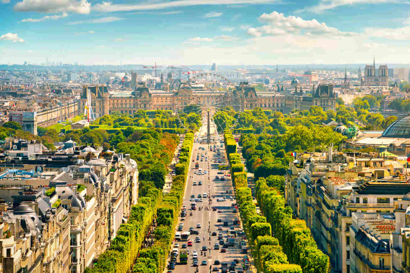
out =
{"type": "Polygon", "coordinates": [[[319,106],[323,111],[336,111],[336,95],[333,85],[319,85],[312,89],[310,95],[295,91],[291,95],[274,92],[259,92],[248,82],[241,82],[233,91],[211,91],[203,85],[182,83],[176,90],[151,90],[144,82],[139,82],[128,96],[110,95],[108,87],[83,86],[80,97],[80,113],[84,113],[87,103],[87,92],[91,93],[91,106],[96,118],[112,112],[133,114],[143,110],[182,110],[190,104],[202,104],[205,100],[218,102],[221,106],[232,106],[235,111],[251,110],[260,107],[265,110],[290,113],[292,110],[309,110],[319,106]]]}

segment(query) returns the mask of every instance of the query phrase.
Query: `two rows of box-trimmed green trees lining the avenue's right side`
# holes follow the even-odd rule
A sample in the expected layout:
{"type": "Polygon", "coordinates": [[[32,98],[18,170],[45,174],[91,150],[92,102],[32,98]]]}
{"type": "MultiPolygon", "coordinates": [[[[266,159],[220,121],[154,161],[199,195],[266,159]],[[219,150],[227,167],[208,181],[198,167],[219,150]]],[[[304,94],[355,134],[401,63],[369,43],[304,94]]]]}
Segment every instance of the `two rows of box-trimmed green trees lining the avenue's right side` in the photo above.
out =
{"type": "MultiPolygon", "coordinates": [[[[235,141],[230,131],[224,132],[224,142],[235,141]]],[[[243,221],[251,239],[252,253],[259,272],[264,273],[327,273],[329,258],[316,246],[303,220],[292,220],[292,209],[285,207],[280,193],[282,178],[265,174],[257,180],[257,201],[263,216],[256,213],[247,174],[236,147],[230,150],[229,165],[232,183],[243,221]],[[268,182],[269,181],[269,186],[268,182]]],[[[227,151],[228,153],[228,151],[227,151]]]]}

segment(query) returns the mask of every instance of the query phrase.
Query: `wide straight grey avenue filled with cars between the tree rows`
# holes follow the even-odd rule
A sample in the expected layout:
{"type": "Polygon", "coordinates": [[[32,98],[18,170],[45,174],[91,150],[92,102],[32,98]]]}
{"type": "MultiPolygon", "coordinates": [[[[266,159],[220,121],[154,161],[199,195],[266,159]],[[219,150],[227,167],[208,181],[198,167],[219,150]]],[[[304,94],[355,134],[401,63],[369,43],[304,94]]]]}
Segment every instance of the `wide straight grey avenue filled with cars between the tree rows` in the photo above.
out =
{"type": "MultiPolygon", "coordinates": [[[[205,123],[205,122],[204,122],[205,123]]],[[[211,130],[211,133],[214,133],[214,130],[211,130]]],[[[199,131],[199,138],[204,138],[206,141],[206,124],[203,126],[203,128],[199,131]]],[[[214,135],[214,139],[218,139],[216,135],[214,135]]],[[[219,142],[219,141],[217,141],[219,142]]],[[[220,145],[220,143],[214,142],[212,143],[216,145],[220,145]]],[[[226,201],[223,202],[217,202],[216,199],[218,198],[223,198],[223,196],[235,198],[233,194],[233,188],[232,188],[232,181],[229,176],[224,176],[225,180],[222,181],[220,179],[216,179],[215,176],[223,176],[223,174],[217,174],[218,170],[218,163],[215,163],[214,160],[217,160],[219,158],[223,158],[223,163],[220,164],[226,164],[227,158],[226,158],[226,153],[225,149],[221,148],[220,149],[221,155],[218,156],[217,152],[210,151],[209,145],[207,144],[199,144],[199,143],[194,143],[193,147],[193,152],[192,152],[192,157],[191,157],[191,169],[189,169],[189,175],[188,175],[188,182],[187,182],[187,187],[185,190],[185,196],[184,196],[184,202],[183,205],[187,206],[187,217],[185,217],[185,221],[180,221],[180,223],[184,224],[183,231],[189,231],[190,227],[193,227],[194,230],[198,230],[199,234],[198,235],[191,235],[189,241],[192,241],[192,246],[188,246],[186,249],[189,250],[189,259],[188,259],[188,264],[187,265],[180,265],[179,264],[179,256],[177,257],[177,264],[175,266],[175,269],[171,270],[172,272],[183,272],[183,273],[194,273],[196,272],[196,267],[192,265],[193,263],[193,258],[192,258],[192,251],[196,250],[198,252],[198,272],[200,273],[208,273],[210,272],[210,265],[212,266],[212,270],[214,267],[218,267],[219,271],[221,272],[221,265],[214,265],[215,260],[219,260],[220,262],[228,262],[228,267],[230,263],[235,259],[241,260],[246,254],[241,254],[240,251],[240,246],[239,243],[241,241],[241,238],[239,236],[236,237],[235,239],[235,246],[233,247],[228,247],[226,248],[226,253],[221,253],[221,246],[219,250],[214,250],[214,245],[219,242],[218,240],[218,235],[219,232],[223,233],[223,239],[226,241],[227,235],[228,235],[228,228],[232,226],[232,223],[235,219],[237,219],[237,214],[232,212],[234,207],[232,207],[232,203],[236,203],[236,200],[230,200],[229,198],[226,199],[226,201]],[[199,147],[204,147],[205,150],[199,149],[199,147]],[[196,160],[197,158],[197,153],[199,153],[199,160],[196,160]],[[201,160],[201,154],[204,155],[203,161],[201,160]],[[205,161],[205,157],[208,158],[207,161],[205,161]],[[194,159],[194,162],[192,160],[194,159]],[[199,163],[199,168],[202,168],[203,171],[208,171],[208,174],[203,174],[203,175],[198,175],[194,174],[194,171],[198,171],[198,169],[195,169],[195,162],[199,163]],[[191,177],[192,176],[192,177],[191,177]],[[202,185],[193,185],[193,182],[196,181],[198,184],[199,181],[202,181],[202,185]],[[228,194],[226,194],[226,191],[228,190],[228,194]],[[229,193],[231,192],[231,193],[229,193]],[[195,198],[198,198],[198,194],[203,194],[207,193],[208,197],[211,197],[212,204],[209,204],[209,199],[202,199],[203,202],[196,202],[197,209],[196,210],[191,210],[191,203],[192,201],[189,201],[191,198],[191,195],[194,195],[195,198]],[[215,196],[212,198],[212,196],[215,196]],[[210,206],[211,210],[198,210],[198,207],[203,207],[205,208],[206,206],[210,206]],[[216,207],[217,211],[212,211],[212,207],[216,207]],[[221,211],[221,212],[219,212],[221,211]],[[190,216],[190,212],[193,213],[192,216],[190,216]],[[218,219],[221,219],[221,222],[217,222],[218,219]],[[223,222],[228,221],[229,226],[223,226],[223,222]],[[196,228],[197,224],[201,224],[201,228],[196,228]],[[222,230],[218,230],[219,226],[222,227],[222,230]],[[212,232],[216,232],[217,236],[210,236],[212,232]],[[198,236],[200,237],[200,242],[196,243],[195,242],[195,237],[198,236]],[[205,237],[205,241],[203,240],[203,237],[205,237]],[[211,250],[206,251],[206,257],[203,255],[201,256],[201,249],[203,246],[206,246],[208,249],[210,248],[211,250]],[[203,261],[207,261],[207,265],[201,265],[203,261]]],[[[229,171],[225,171],[226,174],[229,173],[229,171]]],[[[240,226],[235,225],[235,230],[239,230],[240,226]]],[[[176,230],[175,230],[176,231],[176,230]]],[[[182,233],[181,232],[181,233],[182,233]]],[[[187,244],[187,241],[177,241],[179,243],[179,250],[182,250],[182,244],[187,244]]],[[[236,269],[238,270],[239,268],[242,268],[242,263],[237,264],[236,269]]],[[[217,271],[212,271],[212,272],[217,272],[217,271]]]]}

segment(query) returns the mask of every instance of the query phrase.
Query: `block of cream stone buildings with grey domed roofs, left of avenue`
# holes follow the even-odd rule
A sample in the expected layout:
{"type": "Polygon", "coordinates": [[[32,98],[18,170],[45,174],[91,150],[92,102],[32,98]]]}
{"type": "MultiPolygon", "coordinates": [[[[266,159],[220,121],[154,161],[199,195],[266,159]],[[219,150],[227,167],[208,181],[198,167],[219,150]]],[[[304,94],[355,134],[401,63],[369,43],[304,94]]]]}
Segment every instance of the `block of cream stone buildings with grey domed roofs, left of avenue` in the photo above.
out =
{"type": "Polygon", "coordinates": [[[138,198],[137,163],[114,152],[76,162],[44,173],[23,164],[0,174],[4,272],[81,273],[127,221],[138,198]]]}

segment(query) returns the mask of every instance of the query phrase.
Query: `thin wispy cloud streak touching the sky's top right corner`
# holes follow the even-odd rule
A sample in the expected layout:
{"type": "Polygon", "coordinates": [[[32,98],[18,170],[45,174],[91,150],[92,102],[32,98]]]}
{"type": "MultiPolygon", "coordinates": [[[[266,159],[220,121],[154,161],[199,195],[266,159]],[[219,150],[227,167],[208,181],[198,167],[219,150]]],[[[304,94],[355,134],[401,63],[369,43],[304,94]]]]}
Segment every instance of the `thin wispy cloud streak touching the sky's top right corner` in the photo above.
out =
{"type": "Polygon", "coordinates": [[[334,9],[346,5],[360,5],[360,4],[384,4],[384,3],[405,3],[408,4],[408,0],[321,0],[318,5],[312,7],[306,7],[298,9],[295,12],[310,11],[314,13],[322,13],[323,11],[334,9]]]}

